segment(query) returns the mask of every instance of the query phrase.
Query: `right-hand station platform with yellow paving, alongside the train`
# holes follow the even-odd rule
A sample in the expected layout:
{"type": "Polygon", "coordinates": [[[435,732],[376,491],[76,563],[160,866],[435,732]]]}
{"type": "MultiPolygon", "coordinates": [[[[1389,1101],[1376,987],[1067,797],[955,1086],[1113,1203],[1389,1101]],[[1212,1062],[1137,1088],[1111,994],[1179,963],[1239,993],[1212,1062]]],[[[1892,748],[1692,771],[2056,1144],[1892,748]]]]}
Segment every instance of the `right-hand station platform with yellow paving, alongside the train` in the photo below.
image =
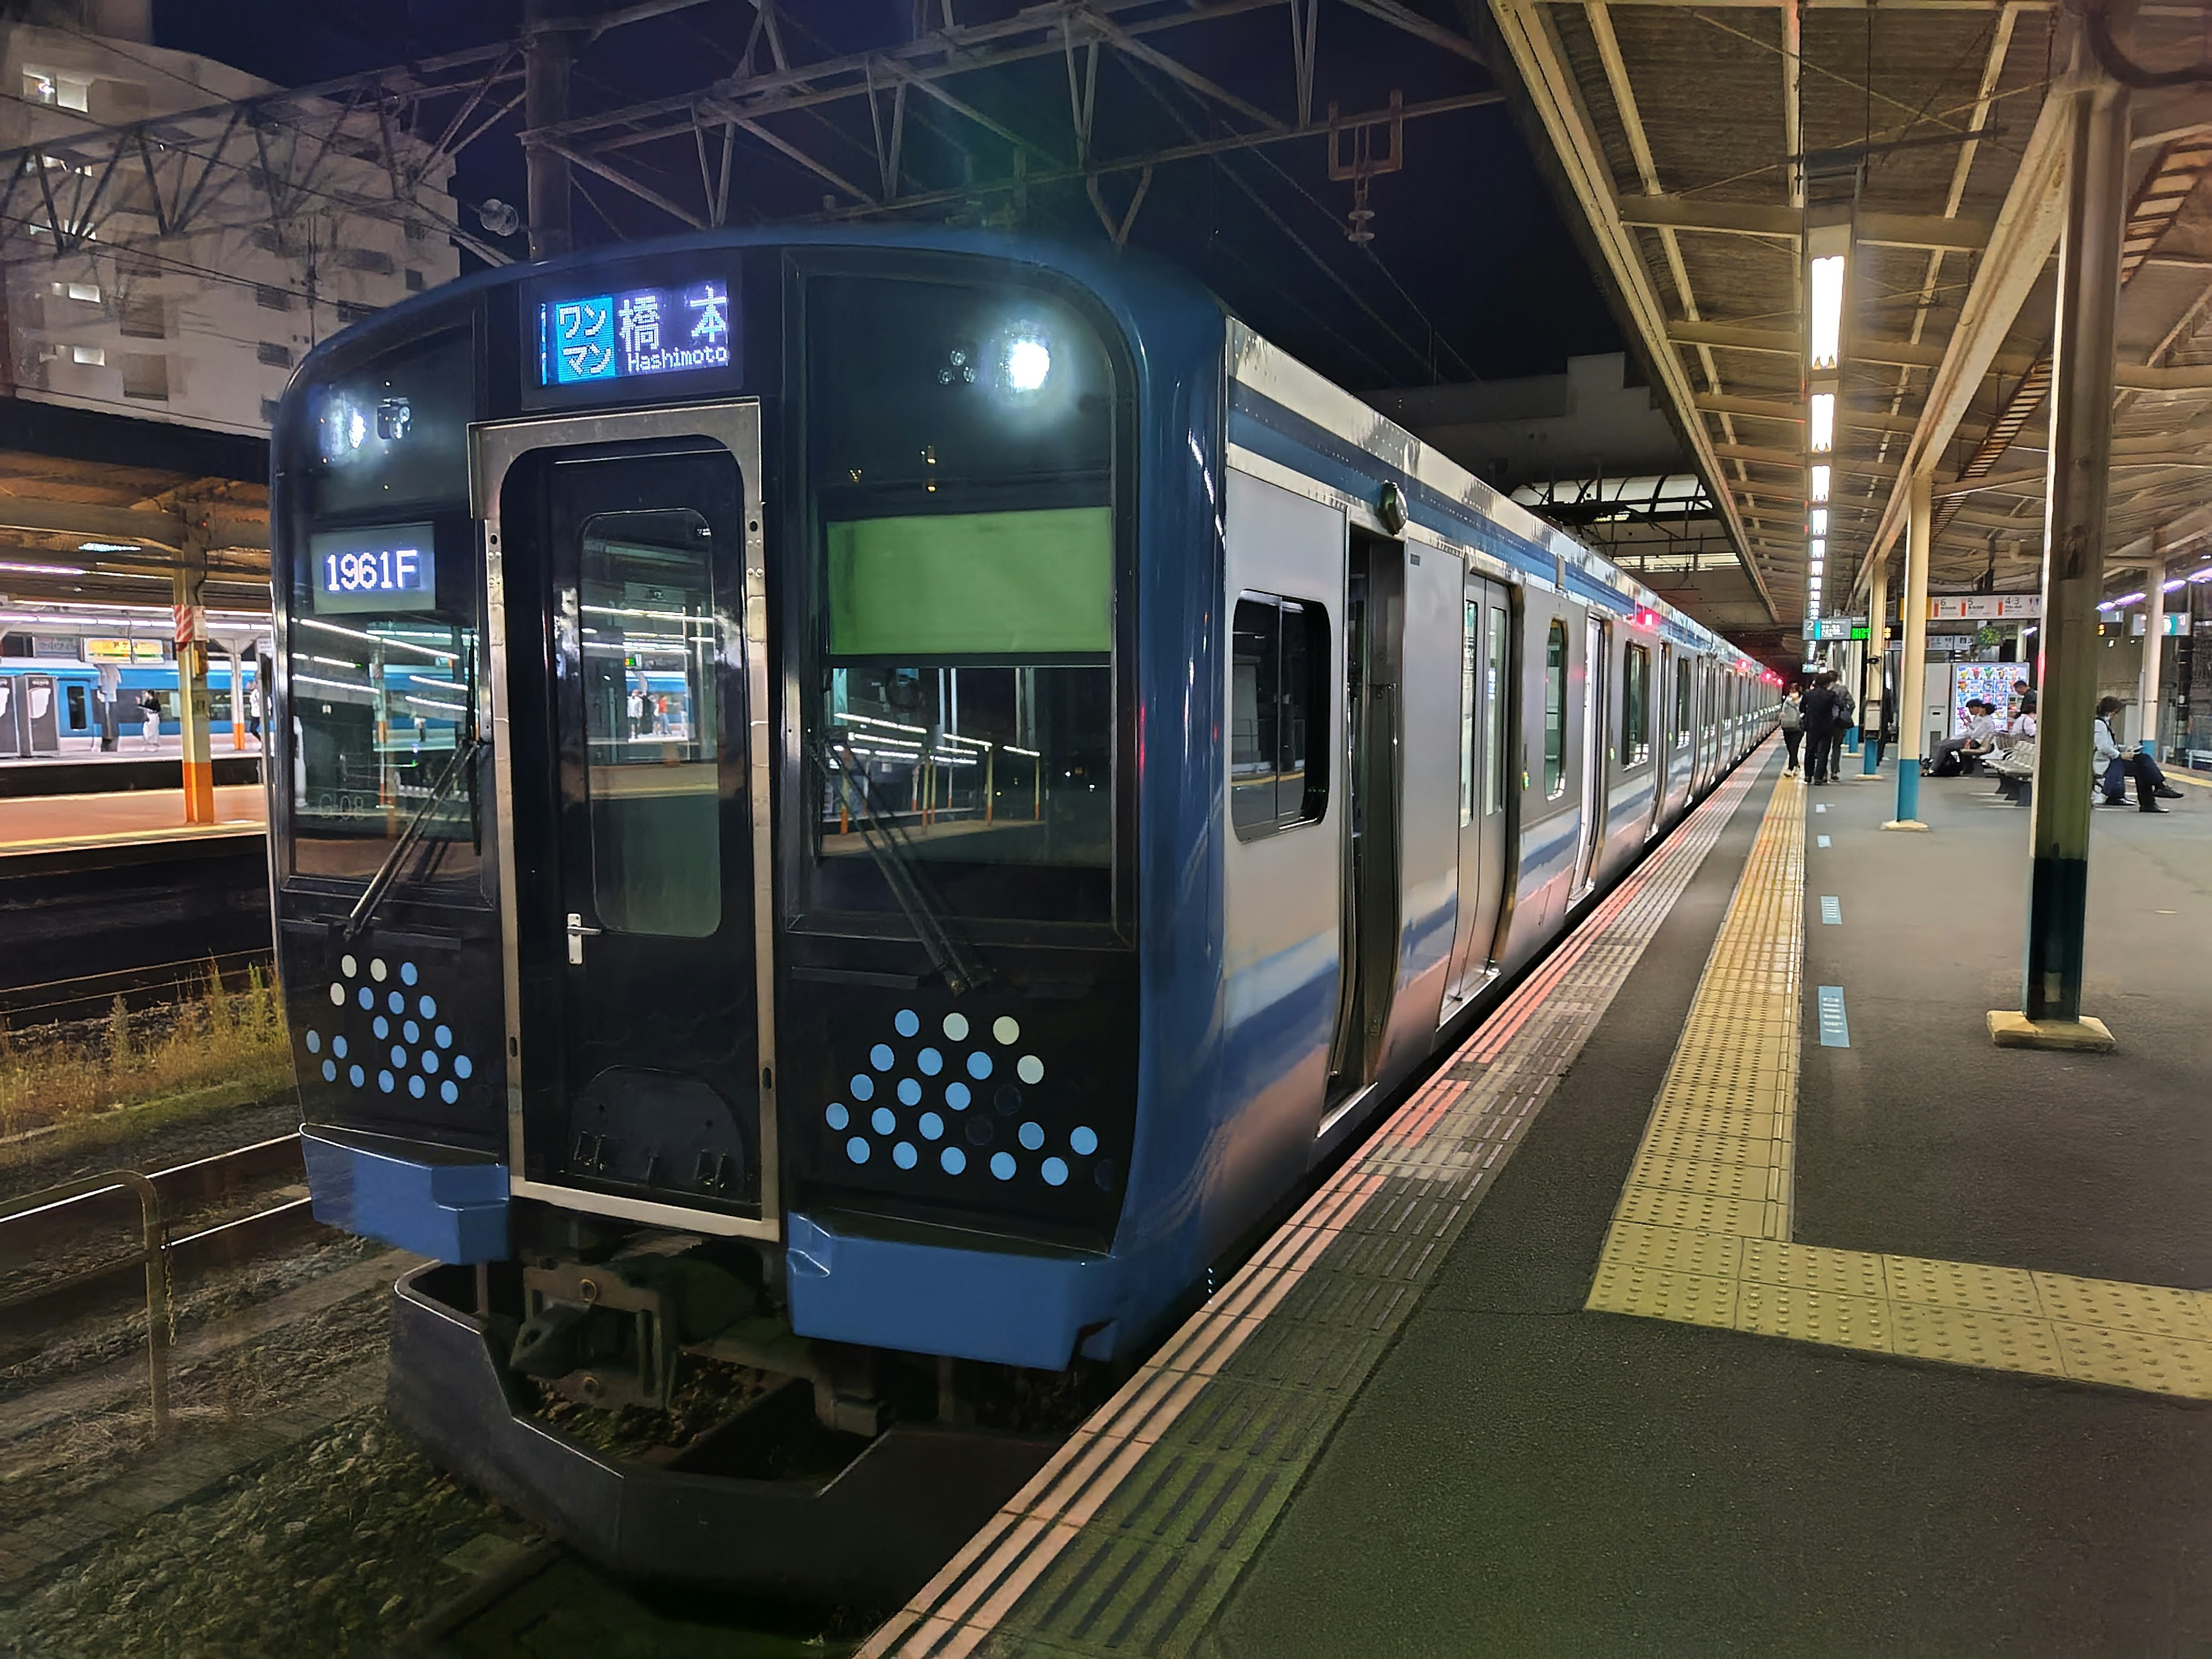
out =
{"type": "MultiPolygon", "coordinates": [[[[1856,765],[1856,761],[1854,761],[1856,765]]],[[[2212,792],[1714,792],[865,1655],[2212,1646],[2212,792]]]]}

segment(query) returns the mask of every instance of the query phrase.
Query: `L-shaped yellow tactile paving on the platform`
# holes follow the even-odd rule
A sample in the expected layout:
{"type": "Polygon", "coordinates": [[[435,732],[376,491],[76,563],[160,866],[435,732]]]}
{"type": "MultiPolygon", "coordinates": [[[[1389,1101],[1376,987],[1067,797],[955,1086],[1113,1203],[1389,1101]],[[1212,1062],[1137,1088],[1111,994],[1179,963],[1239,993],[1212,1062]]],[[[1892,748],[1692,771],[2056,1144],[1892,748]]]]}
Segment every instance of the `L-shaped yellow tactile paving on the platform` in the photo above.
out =
{"type": "Polygon", "coordinates": [[[1805,792],[1781,779],[1586,1307],[2212,1400],[2212,1292],[1790,1239],[1805,792]]]}

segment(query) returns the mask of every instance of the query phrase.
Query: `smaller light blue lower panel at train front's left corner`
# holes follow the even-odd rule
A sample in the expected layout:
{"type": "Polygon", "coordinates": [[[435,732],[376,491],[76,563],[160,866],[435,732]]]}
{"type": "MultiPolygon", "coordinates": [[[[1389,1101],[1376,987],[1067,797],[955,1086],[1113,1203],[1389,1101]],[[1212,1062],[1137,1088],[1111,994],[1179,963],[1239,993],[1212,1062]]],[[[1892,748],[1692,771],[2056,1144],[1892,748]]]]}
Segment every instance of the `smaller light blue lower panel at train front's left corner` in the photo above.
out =
{"type": "Polygon", "coordinates": [[[507,1166],[303,1128],[314,1219],[436,1261],[507,1259],[507,1166]]]}

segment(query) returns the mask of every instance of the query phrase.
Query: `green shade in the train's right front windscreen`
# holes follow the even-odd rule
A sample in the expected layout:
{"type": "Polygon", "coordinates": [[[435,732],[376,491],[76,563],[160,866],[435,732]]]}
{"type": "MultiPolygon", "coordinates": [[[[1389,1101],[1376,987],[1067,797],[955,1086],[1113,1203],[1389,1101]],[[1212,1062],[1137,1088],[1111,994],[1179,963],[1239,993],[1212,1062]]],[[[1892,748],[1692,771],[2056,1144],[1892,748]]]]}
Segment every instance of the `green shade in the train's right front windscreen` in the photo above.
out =
{"type": "Polygon", "coordinates": [[[1113,650],[1113,509],[830,524],[836,657],[1113,650]]]}

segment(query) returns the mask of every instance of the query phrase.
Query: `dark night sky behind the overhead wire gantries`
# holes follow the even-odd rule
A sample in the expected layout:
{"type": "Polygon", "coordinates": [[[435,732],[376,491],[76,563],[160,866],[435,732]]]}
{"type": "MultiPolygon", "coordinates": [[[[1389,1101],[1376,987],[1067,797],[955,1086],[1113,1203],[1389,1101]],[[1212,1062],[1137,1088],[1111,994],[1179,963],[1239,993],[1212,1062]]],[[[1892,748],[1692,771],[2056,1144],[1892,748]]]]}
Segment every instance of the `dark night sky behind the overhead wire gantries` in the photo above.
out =
{"type": "MultiPolygon", "coordinates": [[[[958,13],[973,22],[1011,9],[969,0],[958,13]]],[[[1449,7],[1433,11],[1440,20],[1449,15],[1449,7]]],[[[1285,18],[1265,9],[1152,40],[1254,104],[1290,115],[1285,18]]],[[[726,2],[604,35],[577,55],[573,106],[582,115],[730,73],[750,22],[750,7],[726,2]]],[[[518,24],[520,0],[157,0],[155,7],[159,44],[290,86],[484,44],[518,24]]],[[[909,24],[909,0],[799,0],[785,11],[796,62],[898,40],[909,24]]],[[[1316,117],[1332,100],[1352,113],[1383,108],[1394,88],[1420,102],[1484,86],[1484,71],[1471,62],[1334,0],[1321,7],[1316,117]]],[[[964,77],[958,91],[1055,155],[1073,155],[1066,69],[1057,55],[964,77]]],[[[520,115],[462,155],[456,192],[465,201],[522,201],[518,126],[520,115]]],[[[847,177],[874,179],[863,102],[781,117],[774,126],[847,177]]],[[[1102,53],[1095,155],[1221,131],[1194,93],[1102,53]]],[[[661,155],[670,195],[697,190],[688,144],[661,155]]],[[[1130,246],[1197,272],[1261,334],[1354,389],[1553,374],[1568,356],[1621,349],[1606,301],[1504,106],[1407,124],[1405,168],[1369,186],[1376,217],[1367,248],[1345,239],[1352,186],[1332,184],[1325,159],[1323,139],[1298,139],[1161,168],[1130,246]]],[[[922,97],[909,104],[905,161],[909,190],[956,184],[962,164],[980,179],[1000,179],[1011,166],[1006,144],[922,97]]],[[[821,206],[818,179],[743,137],[739,168],[732,221],[821,206]]],[[[1126,204],[1133,184],[1135,175],[1108,177],[1108,204],[1126,204]]],[[[586,179],[586,188],[591,199],[575,206],[580,243],[677,228],[604,181],[586,179]]],[[[1086,241],[1106,234],[1079,184],[1031,190],[1026,228],[1086,241]]]]}

